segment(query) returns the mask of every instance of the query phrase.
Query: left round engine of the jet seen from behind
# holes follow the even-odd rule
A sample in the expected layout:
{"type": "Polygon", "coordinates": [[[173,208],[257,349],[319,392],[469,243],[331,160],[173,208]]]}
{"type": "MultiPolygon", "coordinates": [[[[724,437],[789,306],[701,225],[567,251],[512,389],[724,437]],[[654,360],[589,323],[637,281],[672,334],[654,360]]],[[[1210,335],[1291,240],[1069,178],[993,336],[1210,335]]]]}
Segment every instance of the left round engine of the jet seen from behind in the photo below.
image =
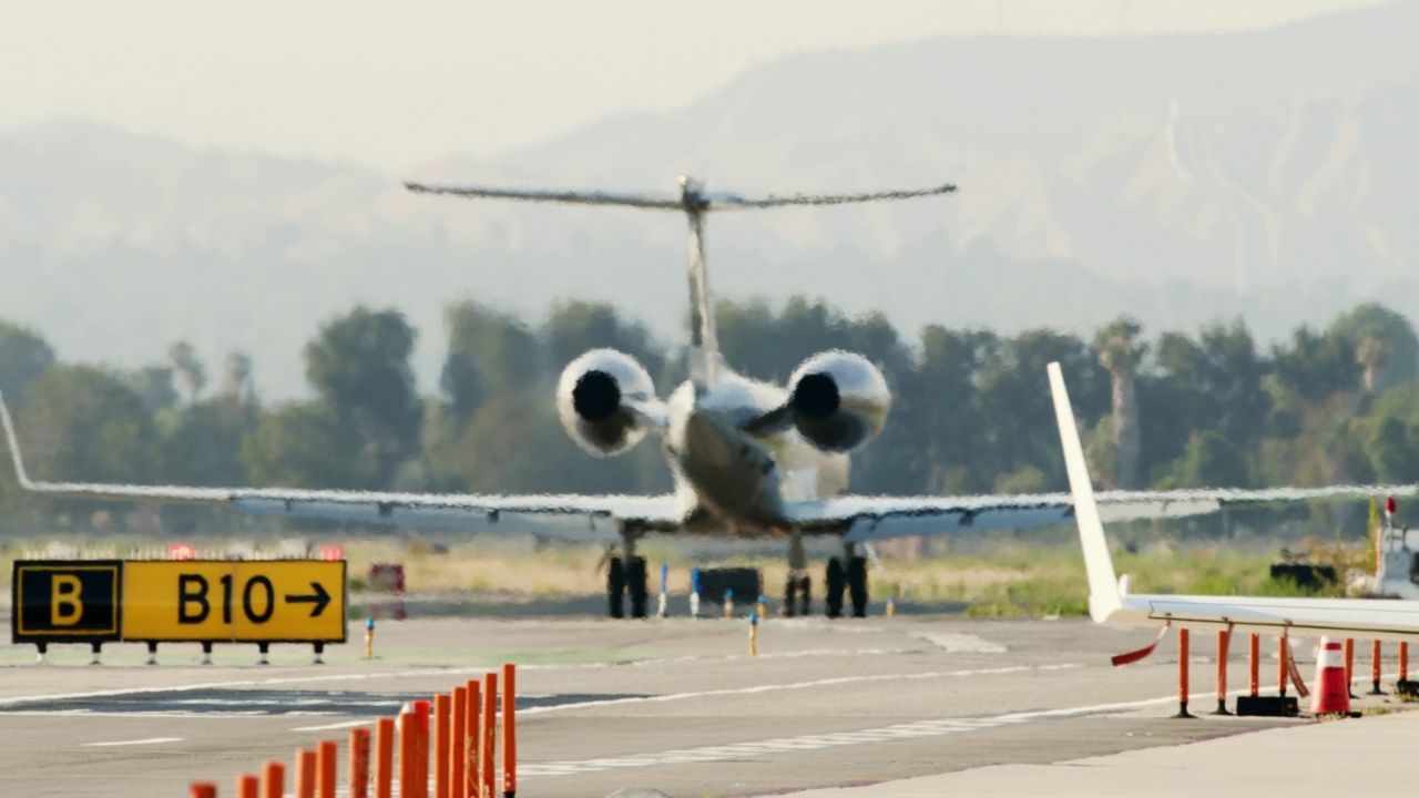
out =
{"type": "Polygon", "coordinates": [[[556,381],[556,410],[566,434],[597,457],[620,454],[646,437],[648,430],[626,400],[650,402],[654,396],[646,366],[616,349],[586,352],[556,381]]]}

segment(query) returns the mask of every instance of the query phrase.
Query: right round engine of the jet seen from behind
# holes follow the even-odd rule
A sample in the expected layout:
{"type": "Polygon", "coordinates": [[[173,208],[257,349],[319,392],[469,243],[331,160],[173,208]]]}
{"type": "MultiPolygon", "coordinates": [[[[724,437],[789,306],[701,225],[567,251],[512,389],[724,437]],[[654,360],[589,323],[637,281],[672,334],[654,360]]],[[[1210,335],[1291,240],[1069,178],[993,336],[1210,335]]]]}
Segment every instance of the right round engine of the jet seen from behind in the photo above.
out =
{"type": "Polygon", "coordinates": [[[877,437],[891,409],[883,372],[851,352],[820,352],[789,379],[799,434],[824,452],[854,452],[877,437]]]}

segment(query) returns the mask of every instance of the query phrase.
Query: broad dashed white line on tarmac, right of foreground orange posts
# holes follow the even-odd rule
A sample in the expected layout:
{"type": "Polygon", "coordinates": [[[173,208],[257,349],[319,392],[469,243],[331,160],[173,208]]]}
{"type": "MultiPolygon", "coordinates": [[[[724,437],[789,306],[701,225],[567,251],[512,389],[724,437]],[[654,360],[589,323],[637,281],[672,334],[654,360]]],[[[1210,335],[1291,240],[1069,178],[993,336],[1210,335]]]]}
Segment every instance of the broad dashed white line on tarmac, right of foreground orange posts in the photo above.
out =
{"type": "MultiPolygon", "coordinates": [[[[1016,669],[1016,670],[1046,670],[1046,669],[1060,669],[1060,667],[1071,667],[1071,666],[1069,665],[1043,666],[1039,669],[1016,669]]],[[[1195,693],[1193,696],[1203,697],[1215,693],[1199,692],[1195,693]]],[[[677,748],[671,751],[658,751],[654,754],[631,754],[627,757],[602,757],[593,760],[566,760],[566,761],[546,761],[546,763],[519,763],[518,775],[525,778],[538,778],[538,777],[558,777],[558,775],[582,775],[582,774],[600,772],[609,770],[656,767],[668,764],[724,763],[729,760],[765,757],[772,754],[785,754],[795,751],[819,751],[823,748],[836,748],[841,745],[891,743],[895,740],[942,737],[946,734],[965,734],[969,731],[986,731],[990,728],[1002,728],[1006,726],[1015,726],[1037,720],[1053,720],[1061,717],[1114,713],[1114,711],[1134,710],[1156,704],[1168,704],[1176,700],[1178,700],[1176,696],[1165,696],[1162,699],[1115,701],[1108,704],[1066,707],[1057,710],[1007,713],[1007,714],[988,716],[988,717],[952,717],[941,720],[920,720],[914,723],[898,723],[894,726],[884,726],[878,728],[837,731],[829,734],[807,734],[803,737],[780,737],[775,740],[759,740],[753,743],[708,745],[704,748],[677,748]]]]}

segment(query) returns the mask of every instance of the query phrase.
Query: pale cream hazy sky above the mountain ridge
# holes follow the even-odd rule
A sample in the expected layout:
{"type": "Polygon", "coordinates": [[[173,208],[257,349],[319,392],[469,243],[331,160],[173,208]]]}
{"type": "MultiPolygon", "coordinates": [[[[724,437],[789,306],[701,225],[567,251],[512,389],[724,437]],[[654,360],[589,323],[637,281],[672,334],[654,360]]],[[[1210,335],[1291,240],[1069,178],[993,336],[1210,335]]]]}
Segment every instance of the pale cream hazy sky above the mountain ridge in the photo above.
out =
{"type": "Polygon", "coordinates": [[[800,50],[1261,27],[1372,0],[11,3],[0,129],[85,118],[397,175],[684,104],[800,50]]]}

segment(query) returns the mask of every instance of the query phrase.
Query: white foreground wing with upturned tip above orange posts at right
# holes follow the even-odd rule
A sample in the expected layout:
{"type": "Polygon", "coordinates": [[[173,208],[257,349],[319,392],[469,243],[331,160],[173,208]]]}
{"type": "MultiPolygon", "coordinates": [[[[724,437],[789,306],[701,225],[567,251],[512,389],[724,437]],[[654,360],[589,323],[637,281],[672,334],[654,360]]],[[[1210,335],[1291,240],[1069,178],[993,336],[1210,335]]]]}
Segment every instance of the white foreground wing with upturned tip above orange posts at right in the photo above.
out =
{"type": "Polygon", "coordinates": [[[1088,613],[1097,623],[1186,626],[1293,635],[1419,640],[1419,602],[1270,596],[1142,595],[1115,579],[1098,505],[1059,364],[1049,365],[1054,415],[1064,447],[1074,520],[1088,572],[1088,613]]]}

